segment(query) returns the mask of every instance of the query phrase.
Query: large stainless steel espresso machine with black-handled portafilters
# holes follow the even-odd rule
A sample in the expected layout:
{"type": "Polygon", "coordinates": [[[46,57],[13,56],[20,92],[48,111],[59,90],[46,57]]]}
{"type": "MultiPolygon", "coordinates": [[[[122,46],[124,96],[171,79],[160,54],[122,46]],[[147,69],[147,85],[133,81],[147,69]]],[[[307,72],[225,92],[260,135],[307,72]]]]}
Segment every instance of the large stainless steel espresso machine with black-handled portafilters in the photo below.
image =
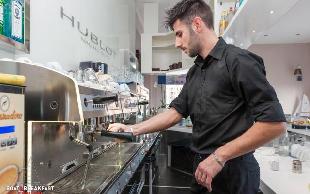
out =
{"type": "Polygon", "coordinates": [[[106,129],[139,112],[138,97],[79,86],[28,63],[0,60],[0,72],[26,77],[24,186],[53,185],[45,193],[57,194],[121,193],[143,158],[143,144],[130,142],[131,133],[106,129]]]}

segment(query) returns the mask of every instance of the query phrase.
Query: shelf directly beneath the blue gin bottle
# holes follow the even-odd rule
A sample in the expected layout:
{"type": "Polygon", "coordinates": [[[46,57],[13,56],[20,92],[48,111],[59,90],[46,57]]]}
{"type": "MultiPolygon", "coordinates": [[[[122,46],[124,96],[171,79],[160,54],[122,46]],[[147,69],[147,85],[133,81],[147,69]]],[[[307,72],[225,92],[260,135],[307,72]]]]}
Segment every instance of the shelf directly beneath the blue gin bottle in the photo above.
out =
{"type": "Polygon", "coordinates": [[[0,49],[13,54],[16,50],[29,54],[29,46],[3,35],[0,35],[0,49]]]}

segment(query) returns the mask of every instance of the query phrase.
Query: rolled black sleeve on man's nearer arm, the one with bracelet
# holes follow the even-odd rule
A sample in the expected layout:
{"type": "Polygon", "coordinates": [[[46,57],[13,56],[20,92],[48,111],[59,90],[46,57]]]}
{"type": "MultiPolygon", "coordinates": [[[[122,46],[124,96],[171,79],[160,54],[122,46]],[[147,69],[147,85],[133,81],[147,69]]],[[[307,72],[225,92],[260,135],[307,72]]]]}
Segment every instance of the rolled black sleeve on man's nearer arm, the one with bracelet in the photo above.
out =
{"type": "Polygon", "coordinates": [[[277,94],[266,79],[261,57],[248,51],[239,53],[230,66],[230,77],[255,121],[286,121],[277,94]]]}

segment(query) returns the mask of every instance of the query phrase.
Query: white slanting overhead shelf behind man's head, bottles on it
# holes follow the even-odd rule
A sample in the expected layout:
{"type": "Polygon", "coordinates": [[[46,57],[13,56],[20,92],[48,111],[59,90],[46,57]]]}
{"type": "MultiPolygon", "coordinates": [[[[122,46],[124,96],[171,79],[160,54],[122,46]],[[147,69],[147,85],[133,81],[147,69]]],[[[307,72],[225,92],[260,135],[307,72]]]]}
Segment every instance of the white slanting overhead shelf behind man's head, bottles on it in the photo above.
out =
{"type": "Polygon", "coordinates": [[[224,40],[228,44],[247,49],[258,37],[277,23],[298,1],[244,0],[223,32],[224,40]],[[273,14],[269,13],[271,10],[274,11],[273,14]]]}

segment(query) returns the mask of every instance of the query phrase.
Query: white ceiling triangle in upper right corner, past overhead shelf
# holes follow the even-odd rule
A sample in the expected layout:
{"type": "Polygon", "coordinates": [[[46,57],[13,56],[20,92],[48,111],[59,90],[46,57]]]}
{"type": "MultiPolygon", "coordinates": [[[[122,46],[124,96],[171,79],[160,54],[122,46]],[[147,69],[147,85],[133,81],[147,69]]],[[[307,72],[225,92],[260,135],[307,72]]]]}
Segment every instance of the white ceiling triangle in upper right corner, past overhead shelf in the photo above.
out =
{"type": "Polygon", "coordinates": [[[309,9],[310,0],[300,0],[267,32],[256,39],[254,44],[309,43],[309,9]]]}

